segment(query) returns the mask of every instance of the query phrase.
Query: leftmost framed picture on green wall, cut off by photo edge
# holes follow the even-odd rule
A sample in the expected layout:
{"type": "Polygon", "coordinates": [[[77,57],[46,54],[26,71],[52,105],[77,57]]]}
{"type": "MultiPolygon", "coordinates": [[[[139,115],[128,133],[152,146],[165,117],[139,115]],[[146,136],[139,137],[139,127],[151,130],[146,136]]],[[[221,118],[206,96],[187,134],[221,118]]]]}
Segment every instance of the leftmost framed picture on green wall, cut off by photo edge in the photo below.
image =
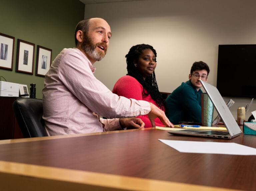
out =
{"type": "Polygon", "coordinates": [[[0,33],[0,69],[12,70],[14,37],[0,33]]]}

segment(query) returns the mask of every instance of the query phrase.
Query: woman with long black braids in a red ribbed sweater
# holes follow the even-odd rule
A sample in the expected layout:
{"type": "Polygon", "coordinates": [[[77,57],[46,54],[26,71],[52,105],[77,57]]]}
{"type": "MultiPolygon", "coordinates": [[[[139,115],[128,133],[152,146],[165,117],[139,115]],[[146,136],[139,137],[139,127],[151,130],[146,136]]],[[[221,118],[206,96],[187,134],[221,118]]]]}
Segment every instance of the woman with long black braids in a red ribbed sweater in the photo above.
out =
{"type": "MultiPolygon", "coordinates": [[[[116,82],[112,92],[126,98],[151,102],[166,111],[166,105],[158,90],[154,72],[156,50],[150,45],[136,45],[130,48],[125,57],[128,74],[116,82]]],[[[152,127],[147,115],[138,116],[138,118],[145,123],[145,128],[152,127]]],[[[155,125],[164,126],[159,118],[155,119],[155,125]]]]}

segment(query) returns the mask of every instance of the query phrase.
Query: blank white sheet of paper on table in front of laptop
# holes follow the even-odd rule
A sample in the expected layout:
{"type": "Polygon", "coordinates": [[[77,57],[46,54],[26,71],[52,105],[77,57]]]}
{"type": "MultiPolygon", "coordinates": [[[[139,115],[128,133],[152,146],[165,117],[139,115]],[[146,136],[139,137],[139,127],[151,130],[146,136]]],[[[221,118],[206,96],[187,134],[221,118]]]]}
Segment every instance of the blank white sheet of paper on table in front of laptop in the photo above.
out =
{"type": "Polygon", "coordinates": [[[256,148],[237,143],[158,140],[180,152],[256,155],[256,148]]]}

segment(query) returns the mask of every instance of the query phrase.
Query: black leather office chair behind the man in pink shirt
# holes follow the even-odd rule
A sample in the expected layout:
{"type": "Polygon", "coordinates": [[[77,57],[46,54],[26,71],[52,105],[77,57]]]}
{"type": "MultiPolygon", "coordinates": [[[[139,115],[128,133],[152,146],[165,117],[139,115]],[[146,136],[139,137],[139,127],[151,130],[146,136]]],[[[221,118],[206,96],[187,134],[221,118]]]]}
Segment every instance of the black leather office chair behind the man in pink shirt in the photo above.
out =
{"type": "Polygon", "coordinates": [[[42,100],[18,98],[13,102],[12,108],[24,138],[48,136],[42,119],[42,100]]]}

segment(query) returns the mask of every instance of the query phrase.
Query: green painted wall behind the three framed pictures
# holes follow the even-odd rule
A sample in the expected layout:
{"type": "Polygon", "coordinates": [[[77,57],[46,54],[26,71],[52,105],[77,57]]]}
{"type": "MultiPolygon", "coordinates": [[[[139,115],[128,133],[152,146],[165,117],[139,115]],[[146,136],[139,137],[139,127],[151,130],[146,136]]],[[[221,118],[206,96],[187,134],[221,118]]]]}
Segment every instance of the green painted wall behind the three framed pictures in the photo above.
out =
{"type": "Polygon", "coordinates": [[[52,61],[63,48],[75,47],[74,31],[84,19],[85,6],[79,0],[3,0],[0,4],[0,33],[15,37],[13,70],[0,69],[0,75],[28,89],[35,83],[36,98],[42,99],[44,78],[35,76],[37,45],[52,49],[52,61]],[[17,39],[35,44],[33,75],[15,72],[17,39]]]}

